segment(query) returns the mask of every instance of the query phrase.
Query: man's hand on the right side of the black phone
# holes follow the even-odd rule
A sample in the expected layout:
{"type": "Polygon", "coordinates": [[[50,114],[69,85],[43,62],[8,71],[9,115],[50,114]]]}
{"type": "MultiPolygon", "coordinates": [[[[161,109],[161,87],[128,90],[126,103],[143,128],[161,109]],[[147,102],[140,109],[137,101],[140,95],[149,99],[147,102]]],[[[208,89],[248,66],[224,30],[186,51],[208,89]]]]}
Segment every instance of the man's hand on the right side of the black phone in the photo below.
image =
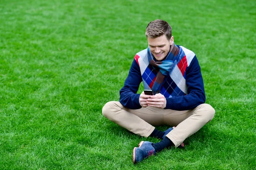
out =
{"type": "Polygon", "coordinates": [[[164,109],[166,107],[166,98],[161,93],[157,93],[156,95],[151,95],[146,104],[147,106],[164,109]]]}

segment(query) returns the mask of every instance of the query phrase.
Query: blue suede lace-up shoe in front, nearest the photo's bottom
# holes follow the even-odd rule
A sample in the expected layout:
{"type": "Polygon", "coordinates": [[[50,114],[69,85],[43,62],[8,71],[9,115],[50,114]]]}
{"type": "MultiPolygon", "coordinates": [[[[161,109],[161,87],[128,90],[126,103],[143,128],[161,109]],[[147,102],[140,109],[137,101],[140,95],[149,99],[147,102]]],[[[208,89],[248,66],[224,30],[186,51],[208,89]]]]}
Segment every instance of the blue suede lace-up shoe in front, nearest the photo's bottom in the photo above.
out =
{"type": "Polygon", "coordinates": [[[152,147],[152,142],[149,141],[141,141],[139,147],[134,147],[133,150],[133,163],[142,161],[148,156],[152,156],[156,154],[154,147],[152,147]]]}

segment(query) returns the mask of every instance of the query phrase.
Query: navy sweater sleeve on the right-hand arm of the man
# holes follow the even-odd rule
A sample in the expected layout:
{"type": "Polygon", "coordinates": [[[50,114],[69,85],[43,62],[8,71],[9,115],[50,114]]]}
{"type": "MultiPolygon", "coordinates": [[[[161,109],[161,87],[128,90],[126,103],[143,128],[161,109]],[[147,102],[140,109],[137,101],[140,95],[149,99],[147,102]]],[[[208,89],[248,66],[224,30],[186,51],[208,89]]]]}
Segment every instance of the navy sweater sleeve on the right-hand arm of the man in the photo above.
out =
{"type": "Polygon", "coordinates": [[[205,102],[204,82],[196,56],[186,69],[187,95],[166,98],[166,108],[189,110],[205,102]]]}

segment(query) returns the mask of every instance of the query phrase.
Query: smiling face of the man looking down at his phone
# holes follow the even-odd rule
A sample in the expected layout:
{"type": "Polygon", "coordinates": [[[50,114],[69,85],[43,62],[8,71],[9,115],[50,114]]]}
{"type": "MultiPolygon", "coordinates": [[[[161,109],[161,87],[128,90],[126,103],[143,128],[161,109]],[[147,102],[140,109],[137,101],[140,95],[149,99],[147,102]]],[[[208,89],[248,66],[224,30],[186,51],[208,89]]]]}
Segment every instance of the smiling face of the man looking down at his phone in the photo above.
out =
{"type": "Polygon", "coordinates": [[[161,61],[166,57],[170,51],[170,45],[173,44],[173,36],[170,40],[167,40],[166,35],[157,38],[147,37],[147,39],[149,49],[157,61],[161,61]]]}

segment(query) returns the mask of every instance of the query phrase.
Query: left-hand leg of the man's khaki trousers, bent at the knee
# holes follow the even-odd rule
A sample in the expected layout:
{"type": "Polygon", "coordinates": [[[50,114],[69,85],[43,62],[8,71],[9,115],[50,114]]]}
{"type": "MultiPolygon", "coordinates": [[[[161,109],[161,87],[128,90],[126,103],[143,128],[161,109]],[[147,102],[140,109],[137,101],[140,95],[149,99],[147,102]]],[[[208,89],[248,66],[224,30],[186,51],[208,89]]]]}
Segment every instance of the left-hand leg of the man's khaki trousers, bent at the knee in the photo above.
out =
{"type": "Polygon", "coordinates": [[[128,109],[118,101],[110,101],[102,108],[102,114],[125,129],[148,137],[156,125],[163,124],[164,109],[145,107],[128,109]]]}

